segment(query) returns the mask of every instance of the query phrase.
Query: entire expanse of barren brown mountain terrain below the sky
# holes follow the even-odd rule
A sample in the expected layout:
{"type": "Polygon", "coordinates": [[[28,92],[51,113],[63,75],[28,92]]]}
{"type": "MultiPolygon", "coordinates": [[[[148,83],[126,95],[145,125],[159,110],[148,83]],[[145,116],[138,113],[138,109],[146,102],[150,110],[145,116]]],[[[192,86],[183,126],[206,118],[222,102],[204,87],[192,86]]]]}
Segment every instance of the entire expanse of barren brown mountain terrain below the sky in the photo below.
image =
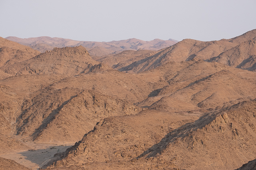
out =
{"type": "Polygon", "coordinates": [[[255,170],[255,58],[256,29],[0,37],[0,170],[255,170]]]}

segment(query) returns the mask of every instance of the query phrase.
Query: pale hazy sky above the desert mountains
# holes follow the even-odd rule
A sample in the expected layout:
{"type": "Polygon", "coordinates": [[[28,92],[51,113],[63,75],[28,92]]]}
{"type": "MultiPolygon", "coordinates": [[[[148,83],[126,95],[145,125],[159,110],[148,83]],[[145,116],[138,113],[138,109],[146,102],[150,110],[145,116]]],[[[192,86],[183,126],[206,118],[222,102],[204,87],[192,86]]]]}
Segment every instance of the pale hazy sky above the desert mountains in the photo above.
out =
{"type": "Polygon", "coordinates": [[[0,0],[0,37],[212,41],[256,29],[256,0],[0,0]]]}

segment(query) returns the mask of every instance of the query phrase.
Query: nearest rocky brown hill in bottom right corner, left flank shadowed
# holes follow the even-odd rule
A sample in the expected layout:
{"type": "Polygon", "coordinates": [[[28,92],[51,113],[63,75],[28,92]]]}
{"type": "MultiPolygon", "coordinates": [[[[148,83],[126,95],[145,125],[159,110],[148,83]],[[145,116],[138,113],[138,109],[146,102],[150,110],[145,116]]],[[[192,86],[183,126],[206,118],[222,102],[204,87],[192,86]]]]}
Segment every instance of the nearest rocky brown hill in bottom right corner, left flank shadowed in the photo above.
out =
{"type": "Polygon", "coordinates": [[[255,106],[254,100],[207,113],[172,131],[142,156],[186,169],[240,167],[256,156],[255,106]]]}

